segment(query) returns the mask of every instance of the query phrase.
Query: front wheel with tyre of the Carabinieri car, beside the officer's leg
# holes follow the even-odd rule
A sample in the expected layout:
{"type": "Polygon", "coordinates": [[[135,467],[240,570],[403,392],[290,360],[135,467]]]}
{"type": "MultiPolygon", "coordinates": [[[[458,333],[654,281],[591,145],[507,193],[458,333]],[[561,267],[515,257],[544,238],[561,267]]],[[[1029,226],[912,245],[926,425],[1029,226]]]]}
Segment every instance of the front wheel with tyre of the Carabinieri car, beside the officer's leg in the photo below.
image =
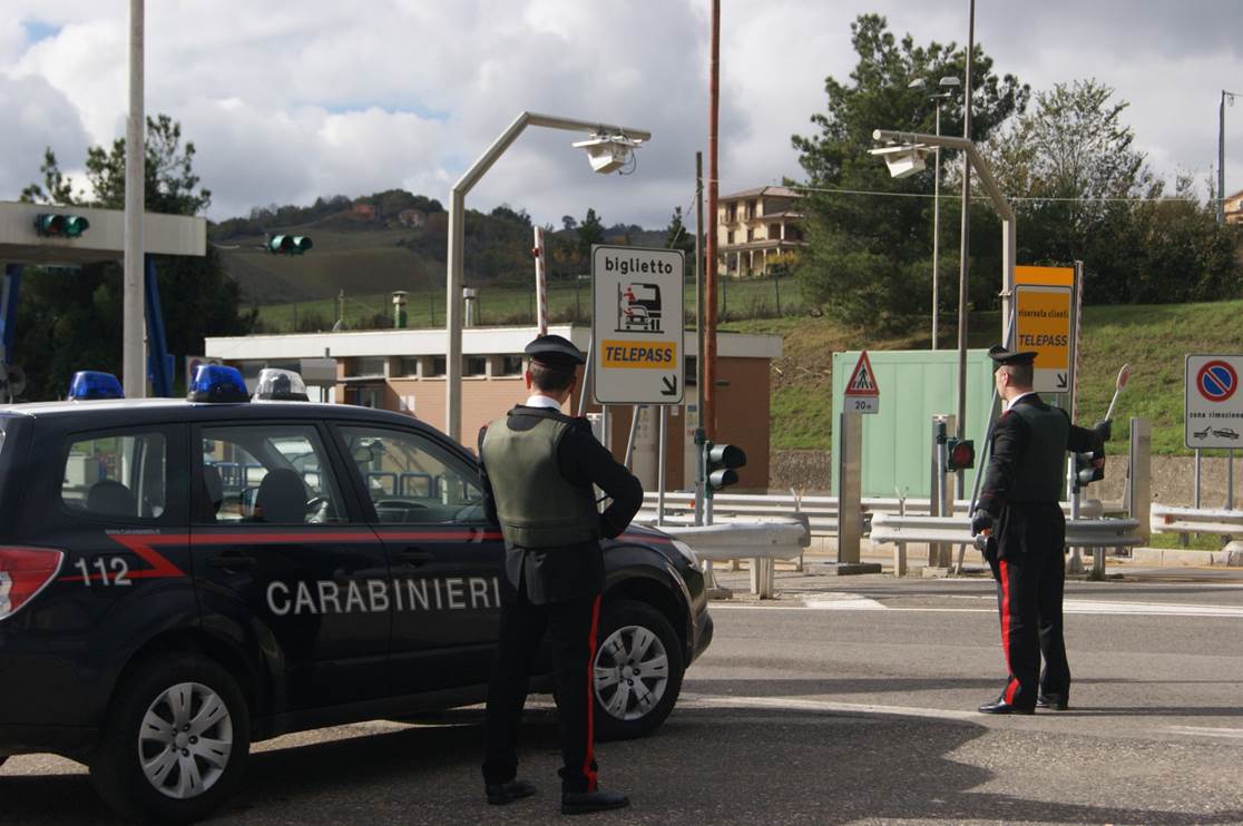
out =
{"type": "Polygon", "coordinates": [[[592,661],[595,730],[623,740],[656,730],[682,687],[682,648],[664,614],[623,600],[605,604],[592,661]]]}

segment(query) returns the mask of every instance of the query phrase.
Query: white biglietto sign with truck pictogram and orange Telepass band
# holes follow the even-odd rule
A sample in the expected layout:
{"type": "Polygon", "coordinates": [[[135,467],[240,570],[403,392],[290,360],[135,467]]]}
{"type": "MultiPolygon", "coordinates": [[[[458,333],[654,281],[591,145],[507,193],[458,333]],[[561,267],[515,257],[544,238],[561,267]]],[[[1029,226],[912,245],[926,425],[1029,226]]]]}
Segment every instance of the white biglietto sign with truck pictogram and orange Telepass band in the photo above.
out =
{"type": "Polygon", "coordinates": [[[592,247],[592,390],[602,405],[681,402],[684,257],[592,247]]]}

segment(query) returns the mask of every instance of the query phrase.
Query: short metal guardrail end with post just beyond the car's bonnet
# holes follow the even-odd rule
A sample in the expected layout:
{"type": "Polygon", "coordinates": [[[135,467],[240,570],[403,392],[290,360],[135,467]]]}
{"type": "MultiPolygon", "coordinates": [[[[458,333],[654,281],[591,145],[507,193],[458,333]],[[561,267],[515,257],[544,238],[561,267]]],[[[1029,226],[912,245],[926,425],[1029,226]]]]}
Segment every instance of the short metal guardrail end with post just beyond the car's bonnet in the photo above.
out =
{"type": "Polygon", "coordinates": [[[798,558],[808,540],[807,525],[797,519],[712,525],[666,524],[661,530],[685,542],[701,560],[709,563],[750,559],[751,592],[759,599],[773,596],[773,560],[798,558]]]}

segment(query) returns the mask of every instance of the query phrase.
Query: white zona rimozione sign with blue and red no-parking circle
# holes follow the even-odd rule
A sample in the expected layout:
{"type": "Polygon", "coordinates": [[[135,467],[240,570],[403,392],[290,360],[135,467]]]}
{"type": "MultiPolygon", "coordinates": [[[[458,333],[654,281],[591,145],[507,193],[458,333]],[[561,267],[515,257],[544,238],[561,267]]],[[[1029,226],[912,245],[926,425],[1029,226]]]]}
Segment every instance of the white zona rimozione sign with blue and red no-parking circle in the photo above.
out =
{"type": "Polygon", "coordinates": [[[1188,355],[1185,376],[1187,447],[1243,447],[1243,355],[1188,355]]]}

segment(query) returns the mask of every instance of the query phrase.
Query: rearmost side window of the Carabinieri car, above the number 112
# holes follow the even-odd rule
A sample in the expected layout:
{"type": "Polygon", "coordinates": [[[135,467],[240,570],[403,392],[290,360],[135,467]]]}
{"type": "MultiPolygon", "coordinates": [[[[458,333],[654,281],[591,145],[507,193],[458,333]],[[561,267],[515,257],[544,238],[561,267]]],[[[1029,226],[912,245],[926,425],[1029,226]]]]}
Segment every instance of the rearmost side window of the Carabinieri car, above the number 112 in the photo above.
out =
{"type": "Polygon", "coordinates": [[[98,517],[158,519],[167,504],[168,442],[159,432],[70,437],[61,502],[98,517]]]}

